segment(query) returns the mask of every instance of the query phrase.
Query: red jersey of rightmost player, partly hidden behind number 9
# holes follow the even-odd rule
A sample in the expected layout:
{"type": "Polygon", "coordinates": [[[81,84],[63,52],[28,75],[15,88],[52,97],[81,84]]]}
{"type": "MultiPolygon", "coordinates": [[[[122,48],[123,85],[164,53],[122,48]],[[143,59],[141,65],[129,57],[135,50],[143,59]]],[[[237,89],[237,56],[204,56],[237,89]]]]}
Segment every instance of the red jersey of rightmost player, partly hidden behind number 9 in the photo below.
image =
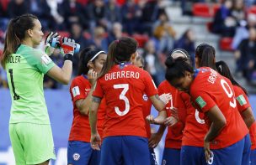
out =
{"type": "MultiPolygon", "coordinates": [[[[248,107],[251,107],[248,96],[244,93],[243,89],[237,85],[233,85],[235,95],[237,98],[237,108],[240,113],[243,113],[248,107]]],[[[252,142],[251,149],[256,148],[256,121],[254,121],[253,125],[249,129],[250,138],[252,142]]]]}

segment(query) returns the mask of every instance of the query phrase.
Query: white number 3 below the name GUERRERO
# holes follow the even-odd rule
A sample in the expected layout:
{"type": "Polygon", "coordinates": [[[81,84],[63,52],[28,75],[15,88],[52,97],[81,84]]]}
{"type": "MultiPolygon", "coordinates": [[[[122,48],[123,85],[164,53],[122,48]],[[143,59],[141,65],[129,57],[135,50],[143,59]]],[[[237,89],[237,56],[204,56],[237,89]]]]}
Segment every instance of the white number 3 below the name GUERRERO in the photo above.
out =
{"type": "Polygon", "coordinates": [[[125,111],[120,111],[119,107],[115,106],[115,113],[119,116],[125,116],[128,111],[130,111],[130,102],[128,98],[125,96],[126,92],[129,90],[128,84],[120,84],[120,85],[114,85],[114,89],[120,89],[122,88],[122,92],[119,95],[119,99],[122,101],[125,101],[125,111]]]}

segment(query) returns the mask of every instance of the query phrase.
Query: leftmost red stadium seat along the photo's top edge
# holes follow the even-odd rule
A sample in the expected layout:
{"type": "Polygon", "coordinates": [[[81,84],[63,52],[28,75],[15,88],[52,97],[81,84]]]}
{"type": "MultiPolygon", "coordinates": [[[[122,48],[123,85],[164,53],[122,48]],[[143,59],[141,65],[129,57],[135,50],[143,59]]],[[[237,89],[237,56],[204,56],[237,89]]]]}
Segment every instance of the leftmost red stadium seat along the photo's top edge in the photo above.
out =
{"type": "Polygon", "coordinates": [[[203,18],[211,18],[211,8],[207,3],[195,3],[192,9],[193,15],[203,18]]]}

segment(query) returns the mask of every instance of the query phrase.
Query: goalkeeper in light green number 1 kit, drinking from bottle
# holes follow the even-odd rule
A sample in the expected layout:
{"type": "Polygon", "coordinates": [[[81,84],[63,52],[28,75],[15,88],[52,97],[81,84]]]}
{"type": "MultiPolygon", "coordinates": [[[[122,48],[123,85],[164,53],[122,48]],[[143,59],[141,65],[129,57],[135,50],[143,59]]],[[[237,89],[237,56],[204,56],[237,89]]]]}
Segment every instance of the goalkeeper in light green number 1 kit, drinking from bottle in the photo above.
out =
{"type": "MultiPolygon", "coordinates": [[[[40,21],[34,15],[24,14],[11,19],[1,57],[12,97],[9,135],[17,165],[48,164],[56,157],[43,78],[47,74],[62,84],[68,84],[75,43],[67,38],[61,42],[65,62],[59,68],[46,54],[51,54],[49,46],[45,46],[46,53],[35,49],[43,35],[40,21]]],[[[56,33],[49,34],[45,44],[58,37],[56,33]]]]}

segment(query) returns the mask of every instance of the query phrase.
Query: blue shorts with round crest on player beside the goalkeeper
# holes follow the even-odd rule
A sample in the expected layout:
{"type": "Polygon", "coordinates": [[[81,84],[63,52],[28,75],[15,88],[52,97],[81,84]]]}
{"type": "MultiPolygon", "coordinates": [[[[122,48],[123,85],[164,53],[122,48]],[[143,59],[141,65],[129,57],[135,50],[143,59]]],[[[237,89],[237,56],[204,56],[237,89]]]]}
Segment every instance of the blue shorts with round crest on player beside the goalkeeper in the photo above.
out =
{"type": "Polygon", "coordinates": [[[69,141],[67,146],[67,164],[88,164],[93,149],[89,142],[69,141]]]}

